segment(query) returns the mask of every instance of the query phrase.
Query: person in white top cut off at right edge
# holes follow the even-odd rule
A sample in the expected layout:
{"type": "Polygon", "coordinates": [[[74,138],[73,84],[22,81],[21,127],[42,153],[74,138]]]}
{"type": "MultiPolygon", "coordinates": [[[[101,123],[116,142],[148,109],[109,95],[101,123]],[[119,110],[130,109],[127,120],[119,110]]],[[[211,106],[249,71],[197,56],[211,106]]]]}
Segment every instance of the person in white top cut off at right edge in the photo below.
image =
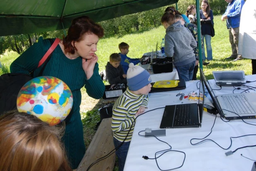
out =
{"type": "Polygon", "coordinates": [[[252,73],[256,74],[256,0],[246,0],[239,31],[238,55],[251,59],[252,73]]]}

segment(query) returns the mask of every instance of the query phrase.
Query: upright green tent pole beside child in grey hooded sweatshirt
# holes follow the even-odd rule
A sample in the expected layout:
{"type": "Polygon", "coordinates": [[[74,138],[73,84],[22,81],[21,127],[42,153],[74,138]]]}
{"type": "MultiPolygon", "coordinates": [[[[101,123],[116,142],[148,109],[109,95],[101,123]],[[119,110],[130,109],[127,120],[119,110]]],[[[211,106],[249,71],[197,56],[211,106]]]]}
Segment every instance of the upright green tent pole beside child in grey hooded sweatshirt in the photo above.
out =
{"type": "Polygon", "coordinates": [[[203,70],[202,59],[202,38],[201,38],[201,23],[200,23],[200,4],[199,0],[196,0],[196,18],[197,18],[197,36],[198,36],[198,50],[199,50],[199,67],[203,70]]]}

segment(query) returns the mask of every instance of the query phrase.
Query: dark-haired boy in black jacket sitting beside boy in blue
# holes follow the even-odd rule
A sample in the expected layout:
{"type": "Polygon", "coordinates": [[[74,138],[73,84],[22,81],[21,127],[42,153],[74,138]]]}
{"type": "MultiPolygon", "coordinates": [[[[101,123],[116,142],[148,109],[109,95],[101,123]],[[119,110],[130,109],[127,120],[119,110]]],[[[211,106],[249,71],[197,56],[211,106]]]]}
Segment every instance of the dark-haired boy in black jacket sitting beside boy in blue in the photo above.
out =
{"type": "Polygon", "coordinates": [[[118,53],[112,53],[106,65],[106,78],[109,84],[122,84],[127,82],[126,74],[124,74],[123,67],[120,63],[121,56],[118,53]]]}

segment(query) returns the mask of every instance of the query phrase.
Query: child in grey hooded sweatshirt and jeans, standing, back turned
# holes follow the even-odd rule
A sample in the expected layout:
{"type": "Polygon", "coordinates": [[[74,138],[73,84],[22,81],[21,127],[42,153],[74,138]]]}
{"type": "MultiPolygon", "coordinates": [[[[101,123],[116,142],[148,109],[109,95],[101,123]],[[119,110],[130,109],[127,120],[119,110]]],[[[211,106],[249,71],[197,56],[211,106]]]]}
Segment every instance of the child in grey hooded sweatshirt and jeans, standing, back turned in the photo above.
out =
{"type": "Polygon", "coordinates": [[[195,39],[180,21],[175,22],[175,16],[172,12],[165,12],[161,22],[166,29],[165,54],[167,57],[173,57],[179,78],[185,81],[192,80],[196,64],[193,51],[197,47],[195,39]]]}

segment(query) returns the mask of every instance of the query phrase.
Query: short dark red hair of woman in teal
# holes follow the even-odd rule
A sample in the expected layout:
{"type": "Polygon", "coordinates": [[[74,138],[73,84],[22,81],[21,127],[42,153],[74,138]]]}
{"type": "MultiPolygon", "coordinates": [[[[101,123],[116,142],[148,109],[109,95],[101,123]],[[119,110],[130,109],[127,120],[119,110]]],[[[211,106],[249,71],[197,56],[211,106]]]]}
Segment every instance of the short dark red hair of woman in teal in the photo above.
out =
{"type": "Polygon", "coordinates": [[[72,41],[82,41],[86,34],[95,34],[101,38],[104,36],[104,29],[87,16],[73,19],[68,35],[63,38],[65,53],[74,54],[76,48],[72,46],[72,41]]]}

